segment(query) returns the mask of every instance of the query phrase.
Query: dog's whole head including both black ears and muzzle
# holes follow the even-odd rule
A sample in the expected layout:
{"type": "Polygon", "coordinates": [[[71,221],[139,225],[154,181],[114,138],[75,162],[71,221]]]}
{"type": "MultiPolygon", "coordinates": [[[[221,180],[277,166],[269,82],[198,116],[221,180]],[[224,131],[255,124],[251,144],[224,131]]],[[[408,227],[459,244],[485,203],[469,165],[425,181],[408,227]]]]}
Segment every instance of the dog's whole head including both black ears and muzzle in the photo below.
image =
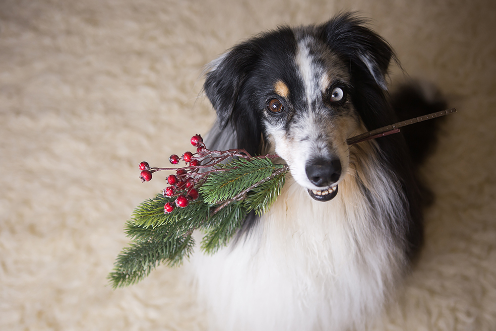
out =
{"type": "Polygon", "coordinates": [[[238,148],[258,154],[269,145],[313,199],[328,201],[348,171],[346,139],[389,124],[392,57],[363,20],[342,14],[235,46],[212,63],[204,89],[238,148]]]}

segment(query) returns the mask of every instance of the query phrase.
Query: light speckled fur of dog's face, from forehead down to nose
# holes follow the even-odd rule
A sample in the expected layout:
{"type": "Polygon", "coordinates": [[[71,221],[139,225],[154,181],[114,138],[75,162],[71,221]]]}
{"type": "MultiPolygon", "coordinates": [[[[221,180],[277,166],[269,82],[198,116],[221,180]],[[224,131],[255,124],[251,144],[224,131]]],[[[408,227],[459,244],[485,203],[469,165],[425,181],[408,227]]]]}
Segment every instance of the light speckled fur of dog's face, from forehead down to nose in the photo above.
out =
{"type": "MultiPolygon", "coordinates": [[[[323,93],[334,82],[348,81],[346,66],[339,58],[311,37],[301,38],[295,58],[297,74],[302,81],[303,103],[294,104],[289,123],[269,121],[266,125],[271,146],[289,165],[293,178],[302,187],[321,190],[312,184],[306,165],[315,158],[338,157],[342,173],[347,171],[349,159],[346,137],[355,130],[353,117],[332,116],[333,107],[326,106],[323,93]]],[[[274,83],[274,91],[286,97],[295,91],[282,81],[274,83]]]]}

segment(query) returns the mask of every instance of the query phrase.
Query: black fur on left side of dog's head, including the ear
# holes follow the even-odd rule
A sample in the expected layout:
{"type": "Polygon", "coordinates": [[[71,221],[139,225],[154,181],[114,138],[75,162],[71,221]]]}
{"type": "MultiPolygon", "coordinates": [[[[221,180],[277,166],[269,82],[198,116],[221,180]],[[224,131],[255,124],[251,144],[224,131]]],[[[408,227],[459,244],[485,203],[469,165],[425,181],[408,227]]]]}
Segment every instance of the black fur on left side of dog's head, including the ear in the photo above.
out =
{"type": "Polygon", "coordinates": [[[231,125],[236,132],[238,146],[252,155],[259,154],[262,147],[262,124],[257,112],[260,105],[256,98],[256,85],[264,84],[264,71],[285,76],[290,57],[281,59],[278,49],[296,52],[296,40],[290,28],[262,34],[231,49],[222,62],[207,74],[204,90],[217,111],[221,127],[231,125]],[[257,84],[248,81],[257,80],[257,84]],[[243,91],[243,93],[241,93],[243,91]]]}

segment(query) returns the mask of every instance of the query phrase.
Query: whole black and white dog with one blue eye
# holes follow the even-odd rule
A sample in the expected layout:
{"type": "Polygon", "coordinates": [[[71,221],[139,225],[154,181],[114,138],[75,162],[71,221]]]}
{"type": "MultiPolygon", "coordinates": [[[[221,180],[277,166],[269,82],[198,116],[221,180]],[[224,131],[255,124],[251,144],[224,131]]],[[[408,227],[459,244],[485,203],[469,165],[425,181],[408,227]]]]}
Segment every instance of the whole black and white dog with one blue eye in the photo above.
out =
{"type": "Polygon", "coordinates": [[[413,88],[388,94],[394,53],[364,23],[345,13],[282,27],[208,68],[218,118],[207,147],[277,153],[291,170],[265,215],[248,215],[224,250],[193,257],[212,330],[366,328],[422,244],[426,142],[413,152],[434,131],[416,127],[411,143],[402,133],[346,139],[444,104],[413,88]]]}

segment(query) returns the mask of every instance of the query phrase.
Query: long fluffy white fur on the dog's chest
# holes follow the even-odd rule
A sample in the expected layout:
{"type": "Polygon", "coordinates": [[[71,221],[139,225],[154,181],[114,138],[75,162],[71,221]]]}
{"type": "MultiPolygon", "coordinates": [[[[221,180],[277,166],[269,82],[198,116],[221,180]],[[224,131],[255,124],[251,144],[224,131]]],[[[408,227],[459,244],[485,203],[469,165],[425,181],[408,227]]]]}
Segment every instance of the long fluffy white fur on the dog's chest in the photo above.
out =
{"type": "Polygon", "coordinates": [[[288,179],[246,239],[213,256],[197,252],[191,266],[212,329],[362,328],[382,307],[405,258],[384,224],[389,220],[374,216],[381,212],[372,212],[356,186],[348,176],[335,199],[319,202],[288,179]]]}

